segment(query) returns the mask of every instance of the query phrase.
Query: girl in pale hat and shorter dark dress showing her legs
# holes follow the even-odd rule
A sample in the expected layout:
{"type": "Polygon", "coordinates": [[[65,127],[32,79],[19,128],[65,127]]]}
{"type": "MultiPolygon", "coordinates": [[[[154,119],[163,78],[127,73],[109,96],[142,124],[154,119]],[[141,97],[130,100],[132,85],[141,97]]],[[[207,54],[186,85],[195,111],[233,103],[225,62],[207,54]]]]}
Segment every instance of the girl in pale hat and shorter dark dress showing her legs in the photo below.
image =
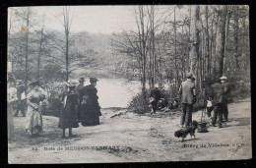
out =
{"type": "Polygon", "coordinates": [[[76,83],[66,83],[68,90],[64,92],[62,97],[63,106],[59,118],[58,127],[63,130],[62,138],[66,138],[65,131],[69,129],[69,137],[72,138],[72,128],[78,128],[78,118],[76,108],[78,105],[78,95],[75,92],[76,83]]]}

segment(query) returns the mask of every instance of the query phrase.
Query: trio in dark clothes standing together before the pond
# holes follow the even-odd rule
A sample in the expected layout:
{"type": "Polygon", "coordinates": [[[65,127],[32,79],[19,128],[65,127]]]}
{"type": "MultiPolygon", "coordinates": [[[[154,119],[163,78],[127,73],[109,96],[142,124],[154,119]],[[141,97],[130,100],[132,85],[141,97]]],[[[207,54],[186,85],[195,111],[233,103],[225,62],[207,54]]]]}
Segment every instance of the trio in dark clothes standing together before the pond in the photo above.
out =
{"type": "Polygon", "coordinates": [[[58,127],[63,130],[62,138],[66,138],[65,130],[69,129],[69,137],[74,137],[72,128],[83,126],[96,126],[101,116],[96,89],[96,78],[90,78],[90,83],[84,86],[85,79],[66,83],[67,89],[62,96],[62,109],[58,127]]]}

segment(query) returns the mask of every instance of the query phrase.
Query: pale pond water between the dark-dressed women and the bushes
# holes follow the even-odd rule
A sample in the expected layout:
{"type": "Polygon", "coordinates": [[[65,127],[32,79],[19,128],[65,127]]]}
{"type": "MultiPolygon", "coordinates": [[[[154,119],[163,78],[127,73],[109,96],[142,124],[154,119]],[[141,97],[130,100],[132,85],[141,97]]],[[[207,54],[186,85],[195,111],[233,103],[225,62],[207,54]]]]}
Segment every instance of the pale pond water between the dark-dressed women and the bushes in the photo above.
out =
{"type": "MultiPolygon", "coordinates": [[[[85,85],[89,81],[86,79],[85,85]]],[[[128,82],[126,79],[98,79],[96,88],[101,108],[126,108],[132,97],[141,90],[141,84],[138,81],[128,82]]]]}

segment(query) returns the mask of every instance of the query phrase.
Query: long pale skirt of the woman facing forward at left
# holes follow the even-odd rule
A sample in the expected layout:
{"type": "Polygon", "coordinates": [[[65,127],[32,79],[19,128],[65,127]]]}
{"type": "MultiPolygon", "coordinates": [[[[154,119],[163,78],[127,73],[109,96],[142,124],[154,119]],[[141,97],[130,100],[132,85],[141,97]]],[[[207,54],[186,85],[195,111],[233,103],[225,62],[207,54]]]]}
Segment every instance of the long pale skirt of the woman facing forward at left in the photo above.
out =
{"type": "Polygon", "coordinates": [[[31,106],[28,107],[27,126],[26,131],[30,135],[38,135],[42,133],[42,115],[40,111],[33,110],[31,106]]]}

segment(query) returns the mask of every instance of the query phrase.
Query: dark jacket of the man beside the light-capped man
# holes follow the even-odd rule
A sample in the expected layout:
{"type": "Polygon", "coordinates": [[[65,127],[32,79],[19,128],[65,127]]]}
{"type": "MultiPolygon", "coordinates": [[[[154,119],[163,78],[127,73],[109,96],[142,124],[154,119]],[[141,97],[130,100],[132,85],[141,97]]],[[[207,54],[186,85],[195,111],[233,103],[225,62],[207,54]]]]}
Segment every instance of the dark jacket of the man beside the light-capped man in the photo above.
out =
{"type": "Polygon", "coordinates": [[[224,86],[219,83],[211,85],[213,104],[224,102],[224,86]]]}

